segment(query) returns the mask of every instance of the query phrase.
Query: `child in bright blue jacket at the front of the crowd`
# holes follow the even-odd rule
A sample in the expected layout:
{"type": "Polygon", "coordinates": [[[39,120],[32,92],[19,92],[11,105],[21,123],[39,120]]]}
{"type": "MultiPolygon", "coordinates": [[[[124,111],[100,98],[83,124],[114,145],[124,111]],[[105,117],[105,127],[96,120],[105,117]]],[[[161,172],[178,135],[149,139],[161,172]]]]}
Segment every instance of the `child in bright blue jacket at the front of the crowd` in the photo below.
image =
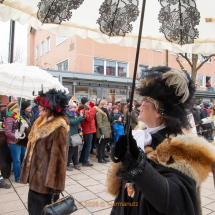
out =
{"type": "Polygon", "coordinates": [[[124,134],[124,124],[120,114],[114,114],[113,133],[114,143],[116,143],[119,137],[124,134]]]}

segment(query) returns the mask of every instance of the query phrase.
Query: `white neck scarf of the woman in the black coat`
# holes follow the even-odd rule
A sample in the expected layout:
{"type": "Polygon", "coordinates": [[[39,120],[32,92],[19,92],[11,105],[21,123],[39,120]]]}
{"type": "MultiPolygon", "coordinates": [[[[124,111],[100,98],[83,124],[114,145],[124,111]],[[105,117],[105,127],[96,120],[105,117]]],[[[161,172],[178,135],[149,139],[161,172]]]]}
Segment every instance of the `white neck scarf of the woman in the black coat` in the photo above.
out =
{"type": "Polygon", "coordinates": [[[142,150],[144,150],[145,146],[151,145],[152,142],[152,134],[155,134],[159,130],[165,128],[165,125],[160,125],[155,128],[146,128],[145,130],[132,130],[132,135],[134,139],[137,141],[137,146],[139,146],[142,150]]]}

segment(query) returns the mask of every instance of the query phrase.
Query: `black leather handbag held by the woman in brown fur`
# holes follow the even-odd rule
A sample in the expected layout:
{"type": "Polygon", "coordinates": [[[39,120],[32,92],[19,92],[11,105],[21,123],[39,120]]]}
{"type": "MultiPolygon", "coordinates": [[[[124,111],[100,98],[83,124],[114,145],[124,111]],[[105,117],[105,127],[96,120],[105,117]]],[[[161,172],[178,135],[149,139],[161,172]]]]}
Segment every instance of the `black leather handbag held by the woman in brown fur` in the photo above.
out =
{"type": "Polygon", "coordinates": [[[52,203],[43,208],[42,215],[69,215],[77,210],[74,198],[72,196],[64,197],[63,193],[61,194],[63,198],[56,202],[54,202],[55,194],[52,195],[52,203]]]}

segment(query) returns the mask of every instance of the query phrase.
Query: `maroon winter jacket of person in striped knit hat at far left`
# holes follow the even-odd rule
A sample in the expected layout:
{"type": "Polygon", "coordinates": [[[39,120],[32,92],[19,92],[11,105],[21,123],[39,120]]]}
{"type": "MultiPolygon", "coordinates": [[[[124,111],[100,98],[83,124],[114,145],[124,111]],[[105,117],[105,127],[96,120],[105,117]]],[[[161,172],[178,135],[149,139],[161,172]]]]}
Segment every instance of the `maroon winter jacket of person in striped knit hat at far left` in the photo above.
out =
{"type": "Polygon", "coordinates": [[[5,136],[7,138],[7,143],[15,144],[15,119],[7,116],[5,119],[5,136]]]}

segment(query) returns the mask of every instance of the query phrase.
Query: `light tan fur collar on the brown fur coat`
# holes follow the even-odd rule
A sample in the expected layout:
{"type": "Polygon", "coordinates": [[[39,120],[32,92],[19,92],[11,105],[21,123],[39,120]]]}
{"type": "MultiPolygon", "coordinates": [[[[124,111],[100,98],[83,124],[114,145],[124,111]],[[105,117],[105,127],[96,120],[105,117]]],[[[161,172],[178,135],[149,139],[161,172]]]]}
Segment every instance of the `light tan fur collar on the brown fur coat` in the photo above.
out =
{"type": "Polygon", "coordinates": [[[25,157],[29,152],[28,163],[27,166],[31,164],[31,157],[34,151],[34,147],[36,142],[40,139],[48,137],[51,133],[53,133],[59,127],[64,127],[67,131],[69,131],[69,125],[63,117],[49,117],[48,119],[43,119],[39,117],[28,135],[28,144],[27,150],[25,153],[25,157]]]}

